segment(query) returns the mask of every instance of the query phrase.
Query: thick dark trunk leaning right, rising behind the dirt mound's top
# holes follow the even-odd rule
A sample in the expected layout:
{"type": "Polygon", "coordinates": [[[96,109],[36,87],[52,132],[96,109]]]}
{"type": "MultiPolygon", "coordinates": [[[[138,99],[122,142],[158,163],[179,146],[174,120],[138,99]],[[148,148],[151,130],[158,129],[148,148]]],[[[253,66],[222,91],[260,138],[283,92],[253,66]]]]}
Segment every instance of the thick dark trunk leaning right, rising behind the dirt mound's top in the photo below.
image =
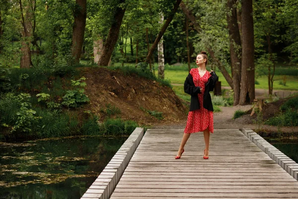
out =
{"type": "MultiPolygon", "coordinates": [[[[124,3],[125,0],[120,0],[120,3],[124,3]]],[[[103,51],[101,53],[100,60],[98,62],[99,66],[107,66],[111,59],[111,55],[113,53],[114,47],[117,43],[119,37],[119,31],[122,24],[122,19],[124,16],[126,8],[122,9],[117,6],[116,11],[114,13],[114,22],[109,30],[106,42],[103,46],[103,51]]]]}

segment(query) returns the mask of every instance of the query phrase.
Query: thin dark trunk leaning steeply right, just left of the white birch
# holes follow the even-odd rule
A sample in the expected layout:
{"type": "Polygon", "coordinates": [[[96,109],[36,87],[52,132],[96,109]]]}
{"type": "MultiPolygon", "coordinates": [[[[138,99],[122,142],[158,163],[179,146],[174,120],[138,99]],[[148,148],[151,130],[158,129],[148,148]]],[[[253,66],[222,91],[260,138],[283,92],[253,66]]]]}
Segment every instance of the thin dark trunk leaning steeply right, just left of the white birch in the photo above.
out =
{"type": "Polygon", "coordinates": [[[149,53],[148,53],[148,55],[147,55],[147,57],[146,57],[145,62],[149,63],[149,60],[150,60],[150,58],[151,58],[151,56],[152,56],[152,54],[153,54],[153,51],[155,50],[155,48],[156,48],[158,42],[160,41],[160,39],[161,39],[163,33],[165,32],[166,28],[168,27],[168,25],[169,25],[170,22],[172,21],[172,19],[173,19],[175,13],[176,13],[176,11],[177,11],[177,9],[178,9],[178,7],[179,7],[180,2],[181,2],[181,0],[177,0],[177,1],[176,1],[176,4],[175,4],[175,6],[174,6],[174,8],[173,8],[173,10],[172,10],[172,12],[171,12],[171,14],[170,14],[170,15],[168,16],[168,18],[166,19],[165,23],[163,24],[161,30],[159,31],[159,33],[158,33],[158,35],[157,35],[157,37],[156,37],[154,43],[152,44],[151,49],[149,50],[149,53]]]}

